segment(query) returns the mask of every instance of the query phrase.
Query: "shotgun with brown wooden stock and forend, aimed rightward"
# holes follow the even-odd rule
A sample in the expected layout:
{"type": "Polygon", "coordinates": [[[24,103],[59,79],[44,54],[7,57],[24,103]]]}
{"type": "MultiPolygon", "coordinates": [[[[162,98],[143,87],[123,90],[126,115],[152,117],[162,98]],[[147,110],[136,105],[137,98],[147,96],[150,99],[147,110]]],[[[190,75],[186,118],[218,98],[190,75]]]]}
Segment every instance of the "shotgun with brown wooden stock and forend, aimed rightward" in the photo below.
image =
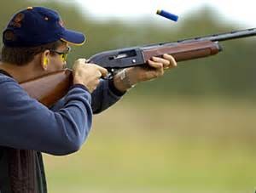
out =
{"type": "MultiPolygon", "coordinates": [[[[218,54],[222,51],[219,42],[253,36],[256,36],[256,28],[194,37],[172,43],[121,48],[95,54],[90,57],[89,62],[101,65],[113,76],[119,69],[145,65],[147,60],[153,56],[171,54],[177,62],[194,60],[218,54]]],[[[66,69],[27,82],[20,82],[20,85],[32,98],[38,99],[39,102],[49,107],[67,94],[72,81],[72,71],[66,69]]]]}

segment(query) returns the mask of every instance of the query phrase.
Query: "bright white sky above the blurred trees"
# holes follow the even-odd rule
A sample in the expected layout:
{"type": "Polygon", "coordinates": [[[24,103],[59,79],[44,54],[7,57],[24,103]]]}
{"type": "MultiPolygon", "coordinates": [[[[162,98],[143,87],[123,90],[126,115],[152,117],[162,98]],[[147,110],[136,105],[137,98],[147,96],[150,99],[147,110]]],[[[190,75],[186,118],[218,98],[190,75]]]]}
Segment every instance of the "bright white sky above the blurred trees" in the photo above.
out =
{"type": "MultiPolygon", "coordinates": [[[[137,20],[140,17],[153,17],[157,9],[177,14],[185,20],[186,13],[202,6],[217,10],[217,20],[228,20],[241,26],[256,27],[255,0],[76,0],[80,9],[95,20],[137,20]]],[[[164,19],[156,19],[164,20],[164,19]]],[[[162,22],[162,21],[160,21],[162,22]]]]}

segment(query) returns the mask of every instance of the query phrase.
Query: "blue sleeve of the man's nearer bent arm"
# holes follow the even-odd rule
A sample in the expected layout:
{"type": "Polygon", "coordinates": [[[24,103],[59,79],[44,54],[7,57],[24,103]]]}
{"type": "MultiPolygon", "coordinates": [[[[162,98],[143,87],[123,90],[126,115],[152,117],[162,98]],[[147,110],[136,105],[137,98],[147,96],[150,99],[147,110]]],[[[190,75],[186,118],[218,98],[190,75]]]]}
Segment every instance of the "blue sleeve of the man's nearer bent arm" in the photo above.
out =
{"type": "Polygon", "coordinates": [[[86,88],[71,88],[57,111],[32,99],[12,78],[1,76],[0,90],[0,145],[67,155],[84,143],[92,122],[86,88]]]}

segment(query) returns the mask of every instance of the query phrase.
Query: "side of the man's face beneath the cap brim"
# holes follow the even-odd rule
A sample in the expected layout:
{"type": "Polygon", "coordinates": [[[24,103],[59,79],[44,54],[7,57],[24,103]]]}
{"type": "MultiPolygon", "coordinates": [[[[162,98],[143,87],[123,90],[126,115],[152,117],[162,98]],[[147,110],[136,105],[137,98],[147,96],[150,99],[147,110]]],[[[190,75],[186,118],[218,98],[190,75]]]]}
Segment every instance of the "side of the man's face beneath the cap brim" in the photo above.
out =
{"type": "Polygon", "coordinates": [[[52,71],[60,71],[67,67],[67,62],[65,59],[65,54],[68,53],[68,45],[67,43],[62,43],[61,46],[56,48],[55,50],[51,50],[49,54],[49,64],[47,70],[52,71]]]}

